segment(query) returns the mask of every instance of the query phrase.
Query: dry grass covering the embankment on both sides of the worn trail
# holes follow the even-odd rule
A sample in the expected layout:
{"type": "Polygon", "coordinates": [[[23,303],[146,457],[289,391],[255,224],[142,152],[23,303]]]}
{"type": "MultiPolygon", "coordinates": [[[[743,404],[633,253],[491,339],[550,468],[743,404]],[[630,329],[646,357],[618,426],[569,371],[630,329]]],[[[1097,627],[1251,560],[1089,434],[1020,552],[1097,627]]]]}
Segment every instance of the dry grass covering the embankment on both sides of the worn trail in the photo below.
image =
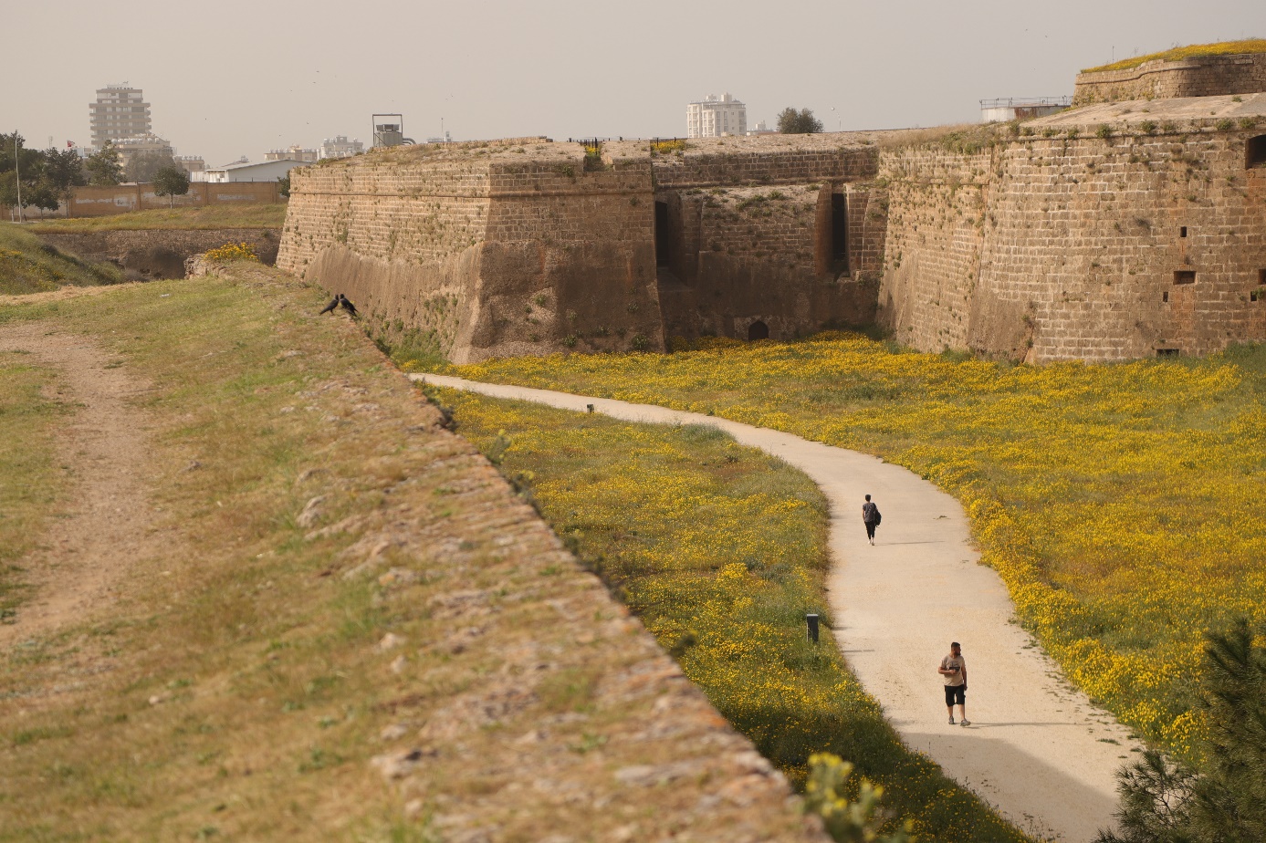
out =
{"type": "MultiPolygon", "coordinates": [[[[429,434],[400,424],[417,420],[417,392],[358,329],[313,318],[320,291],[257,272],[249,287],[204,277],[0,305],[0,332],[39,320],[87,334],[148,381],[143,471],[172,538],[166,558],[129,559],[90,619],[0,654],[0,840],[432,839],[367,766],[387,700],[446,700],[465,675],[446,657],[396,676],[394,654],[373,651],[387,629],[443,638],[418,611],[429,586],[325,576],[353,535],[305,538],[296,515],[316,494],[330,496],[318,527],[372,514],[391,487],[423,520],[472,504],[401,482],[443,453],[423,454],[429,434]]],[[[60,410],[39,397],[48,372],[22,354],[0,366],[9,563],[57,497],[60,410]]],[[[492,551],[490,538],[470,554],[492,551]]],[[[471,751],[501,739],[475,735],[471,751]]],[[[451,776],[470,766],[452,763],[451,776]]]]}

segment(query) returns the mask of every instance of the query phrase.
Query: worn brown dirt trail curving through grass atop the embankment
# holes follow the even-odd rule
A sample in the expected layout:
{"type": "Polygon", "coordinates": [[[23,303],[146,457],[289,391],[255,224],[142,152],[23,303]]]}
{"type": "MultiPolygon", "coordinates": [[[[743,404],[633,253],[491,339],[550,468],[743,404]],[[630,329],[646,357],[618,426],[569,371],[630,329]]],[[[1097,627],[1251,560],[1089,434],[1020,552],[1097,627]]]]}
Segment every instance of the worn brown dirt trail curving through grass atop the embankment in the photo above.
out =
{"type": "Polygon", "coordinates": [[[147,500],[148,418],[128,401],[147,386],[87,338],[46,323],[5,324],[0,352],[14,351],[54,368],[57,397],[73,410],[54,433],[56,465],[70,467],[66,505],[16,562],[34,592],[16,623],[0,625],[0,648],[99,611],[118,597],[129,568],[170,546],[147,500]]]}

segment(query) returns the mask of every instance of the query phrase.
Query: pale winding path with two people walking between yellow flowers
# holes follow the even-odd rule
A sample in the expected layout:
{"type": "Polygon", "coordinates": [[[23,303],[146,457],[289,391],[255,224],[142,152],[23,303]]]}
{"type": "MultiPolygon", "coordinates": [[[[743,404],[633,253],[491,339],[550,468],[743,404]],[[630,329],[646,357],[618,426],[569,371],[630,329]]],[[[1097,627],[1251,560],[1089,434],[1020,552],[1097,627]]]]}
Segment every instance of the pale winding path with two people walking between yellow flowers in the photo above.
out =
{"type": "Polygon", "coordinates": [[[1115,771],[1137,744],[1063,681],[1014,623],[998,575],[977,565],[958,501],[910,471],[800,437],[696,413],[436,375],[437,386],[628,422],[710,424],[808,473],[830,501],[834,634],[849,666],[905,742],[1013,823],[1060,840],[1113,824],[1115,771]],[[875,547],[863,495],[884,513],[875,547]],[[936,672],[950,640],[967,659],[970,728],[947,724],[936,672]]]}

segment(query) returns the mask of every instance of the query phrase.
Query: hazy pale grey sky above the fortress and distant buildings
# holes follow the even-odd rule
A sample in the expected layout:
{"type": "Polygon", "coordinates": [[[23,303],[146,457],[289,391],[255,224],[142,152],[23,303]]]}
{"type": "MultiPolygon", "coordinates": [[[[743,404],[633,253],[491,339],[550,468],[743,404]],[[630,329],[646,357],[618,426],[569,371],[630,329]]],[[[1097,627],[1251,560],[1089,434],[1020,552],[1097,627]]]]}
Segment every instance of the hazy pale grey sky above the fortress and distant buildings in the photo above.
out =
{"type": "Polygon", "coordinates": [[[724,91],[748,125],[786,105],[828,129],[971,122],[1113,56],[1266,38],[1266,3],[14,0],[0,32],[0,130],[87,144],[96,89],[127,81],[216,166],[368,140],[375,111],[418,140],[441,118],[454,139],[684,135],[686,103],[724,91]]]}

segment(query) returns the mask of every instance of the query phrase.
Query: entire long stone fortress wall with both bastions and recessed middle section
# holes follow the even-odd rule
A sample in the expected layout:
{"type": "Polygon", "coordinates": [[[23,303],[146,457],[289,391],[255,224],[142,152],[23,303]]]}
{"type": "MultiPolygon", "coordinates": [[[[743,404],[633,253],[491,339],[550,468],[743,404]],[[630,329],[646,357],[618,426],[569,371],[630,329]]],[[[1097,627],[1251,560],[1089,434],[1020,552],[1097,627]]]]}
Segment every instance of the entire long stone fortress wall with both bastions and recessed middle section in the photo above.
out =
{"type": "Polygon", "coordinates": [[[292,172],[277,263],[456,362],[875,322],[924,351],[1206,353],[1266,339],[1242,58],[1165,77],[1217,96],[1014,127],[376,151],[292,172]]]}

